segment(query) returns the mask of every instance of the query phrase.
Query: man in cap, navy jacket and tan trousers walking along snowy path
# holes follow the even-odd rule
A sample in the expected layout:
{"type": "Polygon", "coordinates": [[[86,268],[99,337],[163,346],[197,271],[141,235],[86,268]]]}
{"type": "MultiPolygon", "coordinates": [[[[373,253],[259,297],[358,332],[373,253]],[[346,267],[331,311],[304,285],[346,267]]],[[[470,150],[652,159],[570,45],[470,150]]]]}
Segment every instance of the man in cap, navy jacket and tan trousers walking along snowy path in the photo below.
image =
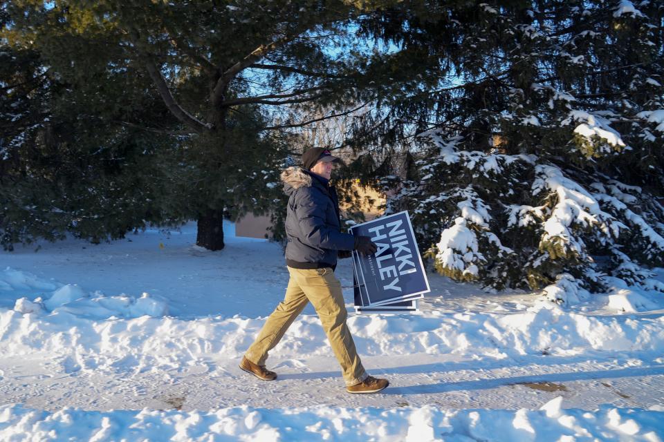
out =
{"type": "Polygon", "coordinates": [[[284,191],[289,196],[286,265],[291,279],[284,300],[268,317],[242,358],[240,368],[264,381],[277,378],[275,372],[265,367],[268,352],[311,302],[341,365],[346,390],[375,393],[389,382],[369,376],[362,367],[346,323],[348,312],[334,269],[338,256],[349,258],[351,250],[370,255],[376,253],[376,244],[368,236],[340,232],[337,193],[329,185],[333,162],[340,161],[324,148],[310,148],[302,155],[302,168],[295,166],[282,172],[284,191]]]}

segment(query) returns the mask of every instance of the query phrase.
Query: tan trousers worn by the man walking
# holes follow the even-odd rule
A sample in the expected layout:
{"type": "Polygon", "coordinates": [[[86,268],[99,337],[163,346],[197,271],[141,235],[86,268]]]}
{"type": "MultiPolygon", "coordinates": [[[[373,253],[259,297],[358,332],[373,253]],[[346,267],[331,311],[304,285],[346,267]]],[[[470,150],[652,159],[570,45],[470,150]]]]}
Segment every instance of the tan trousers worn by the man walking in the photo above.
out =
{"type": "Polygon", "coordinates": [[[268,352],[281,340],[293,320],[297,318],[307,302],[316,309],[323,330],[332,350],[341,365],[346,385],[356,385],[367,378],[360,356],[355,349],[353,336],[346,324],[348,312],[341,293],[341,283],[331,268],[293,269],[288,267],[291,279],[286,296],[270,314],[255,342],[245,357],[257,365],[265,365],[268,352]]]}

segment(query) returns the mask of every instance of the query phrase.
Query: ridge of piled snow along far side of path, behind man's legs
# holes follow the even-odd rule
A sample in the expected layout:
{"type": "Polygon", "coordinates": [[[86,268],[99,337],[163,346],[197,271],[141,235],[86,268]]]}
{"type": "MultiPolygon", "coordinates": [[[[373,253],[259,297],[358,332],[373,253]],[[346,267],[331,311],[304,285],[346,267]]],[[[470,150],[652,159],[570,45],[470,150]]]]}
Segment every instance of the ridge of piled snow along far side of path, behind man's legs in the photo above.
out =
{"type": "MultiPolygon", "coordinates": [[[[552,354],[615,358],[615,352],[664,354],[664,316],[586,316],[543,302],[515,313],[350,316],[361,354],[458,354],[519,358],[552,354]]],[[[264,319],[178,320],[142,316],[91,320],[71,311],[35,314],[0,309],[0,354],[46,352],[65,370],[143,372],[240,358],[264,319]]],[[[329,356],[317,316],[297,318],[271,352],[281,358],[329,356]]]]}

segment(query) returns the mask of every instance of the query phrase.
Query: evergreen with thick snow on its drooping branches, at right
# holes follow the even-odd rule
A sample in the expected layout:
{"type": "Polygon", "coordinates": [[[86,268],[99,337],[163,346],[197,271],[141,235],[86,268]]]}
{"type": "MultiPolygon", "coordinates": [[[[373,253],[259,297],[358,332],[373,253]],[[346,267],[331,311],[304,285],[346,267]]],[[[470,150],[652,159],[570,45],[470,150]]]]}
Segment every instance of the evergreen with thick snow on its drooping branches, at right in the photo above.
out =
{"type": "Polygon", "coordinates": [[[416,168],[383,182],[436,269],[561,302],[611,277],[656,286],[663,15],[651,1],[411,2],[364,23],[415,81],[356,133],[393,167],[396,146],[412,153],[416,168]]]}

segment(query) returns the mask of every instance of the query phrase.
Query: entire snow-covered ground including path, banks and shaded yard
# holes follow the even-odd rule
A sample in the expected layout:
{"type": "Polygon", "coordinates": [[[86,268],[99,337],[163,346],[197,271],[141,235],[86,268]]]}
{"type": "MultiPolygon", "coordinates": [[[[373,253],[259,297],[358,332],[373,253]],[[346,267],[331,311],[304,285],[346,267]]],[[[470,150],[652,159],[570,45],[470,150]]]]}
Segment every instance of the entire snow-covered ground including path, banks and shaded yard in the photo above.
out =
{"type": "Polygon", "coordinates": [[[664,440],[663,294],[564,309],[432,274],[418,314],[349,314],[382,394],[345,392],[311,307],[263,382],[237,364],[288,272],[225,227],[214,253],[193,224],[0,252],[0,440],[664,440]]]}

